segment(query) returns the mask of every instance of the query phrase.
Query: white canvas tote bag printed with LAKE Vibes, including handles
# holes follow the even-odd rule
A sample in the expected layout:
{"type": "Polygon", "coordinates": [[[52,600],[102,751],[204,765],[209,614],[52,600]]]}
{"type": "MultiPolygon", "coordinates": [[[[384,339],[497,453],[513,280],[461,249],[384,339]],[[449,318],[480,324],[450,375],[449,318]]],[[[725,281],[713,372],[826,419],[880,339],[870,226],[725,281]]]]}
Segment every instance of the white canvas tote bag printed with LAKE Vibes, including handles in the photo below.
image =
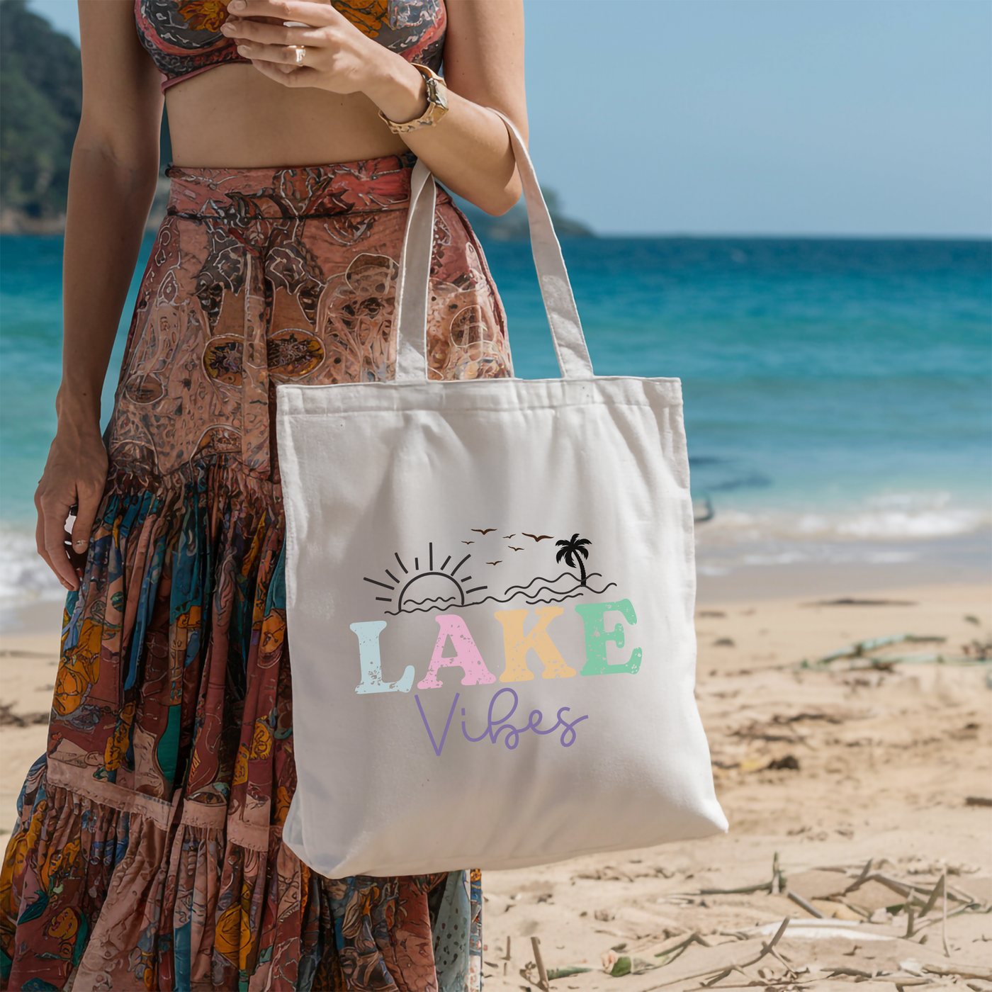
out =
{"type": "Polygon", "coordinates": [[[593,375],[507,126],[561,378],[428,381],[418,164],[396,379],[278,387],[298,773],[283,835],[332,878],[726,829],[692,692],[681,384],[593,375]]]}

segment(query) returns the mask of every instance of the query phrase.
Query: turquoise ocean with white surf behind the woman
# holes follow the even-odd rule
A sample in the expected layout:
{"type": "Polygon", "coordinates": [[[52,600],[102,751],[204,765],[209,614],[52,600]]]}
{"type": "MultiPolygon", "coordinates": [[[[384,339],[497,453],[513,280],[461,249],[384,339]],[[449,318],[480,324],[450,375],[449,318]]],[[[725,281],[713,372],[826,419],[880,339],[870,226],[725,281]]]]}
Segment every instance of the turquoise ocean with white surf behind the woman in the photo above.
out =
{"type": "MultiPolygon", "coordinates": [[[[558,375],[529,245],[485,249],[516,374],[558,375]]],[[[711,514],[700,576],[827,562],[988,573],[992,242],[611,237],[562,250],[596,371],[682,379],[693,498],[711,514]]],[[[55,431],[61,259],[61,237],[0,237],[0,623],[63,595],[34,552],[32,503],[55,431]]]]}

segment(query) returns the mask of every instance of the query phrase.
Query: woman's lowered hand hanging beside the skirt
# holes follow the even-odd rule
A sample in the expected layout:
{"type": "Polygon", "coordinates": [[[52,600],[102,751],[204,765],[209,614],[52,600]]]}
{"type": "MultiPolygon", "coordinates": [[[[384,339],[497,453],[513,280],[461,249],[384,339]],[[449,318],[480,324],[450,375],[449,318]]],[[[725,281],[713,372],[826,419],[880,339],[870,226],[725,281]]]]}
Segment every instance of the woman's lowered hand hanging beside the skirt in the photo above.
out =
{"type": "Polygon", "coordinates": [[[38,554],[66,589],[77,589],[89,535],[107,480],[107,450],[94,427],[81,432],[60,427],[35,491],[38,554]],[[65,520],[75,513],[71,555],[65,549],[65,520]]]}

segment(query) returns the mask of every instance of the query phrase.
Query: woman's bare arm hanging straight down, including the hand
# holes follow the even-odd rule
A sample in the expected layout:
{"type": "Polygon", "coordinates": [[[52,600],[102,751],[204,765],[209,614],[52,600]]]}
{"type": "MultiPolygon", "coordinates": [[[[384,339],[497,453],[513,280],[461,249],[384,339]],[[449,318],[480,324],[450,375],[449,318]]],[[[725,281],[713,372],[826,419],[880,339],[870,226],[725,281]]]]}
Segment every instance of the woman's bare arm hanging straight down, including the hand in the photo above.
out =
{"type": "Polygon", "coordinates": [[[141,48],[131,0],[79,0],[82,118],[72,147],[62,271],[62,385],[58,430],[35,493],[36,539],[62,585],[78,571],[62,545],[85,552],[106,483],[100,392],[155,196],[162,94],[141,48]]]}

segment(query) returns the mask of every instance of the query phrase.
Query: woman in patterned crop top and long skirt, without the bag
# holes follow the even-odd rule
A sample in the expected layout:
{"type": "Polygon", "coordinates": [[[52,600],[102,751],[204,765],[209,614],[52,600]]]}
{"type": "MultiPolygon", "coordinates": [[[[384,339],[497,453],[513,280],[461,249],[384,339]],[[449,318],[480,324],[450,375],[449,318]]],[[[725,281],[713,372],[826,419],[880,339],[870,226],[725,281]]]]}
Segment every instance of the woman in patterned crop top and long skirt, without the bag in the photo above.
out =
{"type": "MultiPolygon", "coordinates": [[[[518,199],[485,108],[526,128],[521,0],[79,8],[59,429],[36,497],[39,553],[69,592],[48,753],[0,884],[4,984],[477,988],[477,872],[330,880],[282,842],[295,773],[272,418],[279,382],[392,376],[415,157],[490,213],[518,199]],[[442,58],[446,112],[424,67],[442,58]],[[180,165],[101,437],[163,90],[180,165]]],[[[443,192],[432,306],[434,378],[512,375],[496,288],[443,192]]]]}

